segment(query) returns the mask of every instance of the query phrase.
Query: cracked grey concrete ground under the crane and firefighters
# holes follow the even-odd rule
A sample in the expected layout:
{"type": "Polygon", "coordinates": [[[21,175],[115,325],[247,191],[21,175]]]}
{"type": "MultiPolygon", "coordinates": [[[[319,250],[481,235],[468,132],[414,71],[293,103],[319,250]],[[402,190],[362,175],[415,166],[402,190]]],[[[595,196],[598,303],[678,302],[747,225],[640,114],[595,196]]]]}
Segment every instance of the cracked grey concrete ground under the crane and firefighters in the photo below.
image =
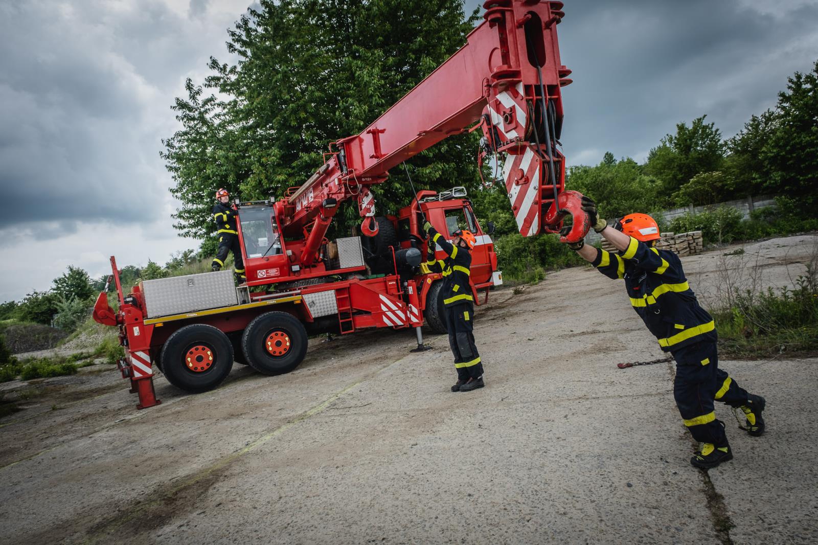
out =
{"type": "MultiPolygon", "coordinates": [[[[715,301],[733,272],[787,285],[815,241],[683,263],[715,301]]],[[[766,397],[768,430],[717,406],[735,460],[704,472],[672,364],[616,367],[663,358],[621,282],[494,291],[475,337],[470,393],[449,391],[446,337],[411,354],[409,331],[315,340],[288,375],[236,365],[206,394],[159,376],[144,411],[115,371],[51,379],[0,420],[0,542],[818,543],[818,359],[720,362],[766,397]]]]}

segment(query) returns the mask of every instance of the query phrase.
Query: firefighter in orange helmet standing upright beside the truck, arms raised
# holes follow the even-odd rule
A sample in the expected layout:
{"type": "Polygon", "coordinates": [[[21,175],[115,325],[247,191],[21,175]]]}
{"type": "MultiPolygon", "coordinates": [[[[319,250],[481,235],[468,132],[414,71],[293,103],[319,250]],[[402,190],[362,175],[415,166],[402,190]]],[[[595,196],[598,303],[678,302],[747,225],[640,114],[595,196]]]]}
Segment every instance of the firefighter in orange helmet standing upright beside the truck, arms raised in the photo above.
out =
{"type": "Polygon", "coordinates": [[[443,317],[449,332],[449,346],[455,357],[457,382],[452,392],[469,392],[483,388],[483,363],[477,346],[474,345],[474,298],[471,295],[469,278],[471,275],[471,250],[477,241],[474,233],[465,229],[452,232],[451,244],[426,221],[423,229],[429,237],[427,260],[422,269],[425,272],[440,272],[443,286],[443,317]],[[435,245],[446,253],[446,259],[435,257],[435,245]]]}

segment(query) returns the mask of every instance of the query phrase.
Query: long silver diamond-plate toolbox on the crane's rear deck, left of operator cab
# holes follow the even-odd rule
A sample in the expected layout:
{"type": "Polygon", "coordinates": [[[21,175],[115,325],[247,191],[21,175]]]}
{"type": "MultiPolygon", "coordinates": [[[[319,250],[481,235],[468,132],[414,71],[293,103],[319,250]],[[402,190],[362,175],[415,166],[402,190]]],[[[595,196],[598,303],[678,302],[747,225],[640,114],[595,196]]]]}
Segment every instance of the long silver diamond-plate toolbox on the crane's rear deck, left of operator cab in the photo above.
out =
{"type": "Polygon", "coordinates": [[[238,304],[233,272],[203,272],[142,282],[148,318],[238,304]]]}

